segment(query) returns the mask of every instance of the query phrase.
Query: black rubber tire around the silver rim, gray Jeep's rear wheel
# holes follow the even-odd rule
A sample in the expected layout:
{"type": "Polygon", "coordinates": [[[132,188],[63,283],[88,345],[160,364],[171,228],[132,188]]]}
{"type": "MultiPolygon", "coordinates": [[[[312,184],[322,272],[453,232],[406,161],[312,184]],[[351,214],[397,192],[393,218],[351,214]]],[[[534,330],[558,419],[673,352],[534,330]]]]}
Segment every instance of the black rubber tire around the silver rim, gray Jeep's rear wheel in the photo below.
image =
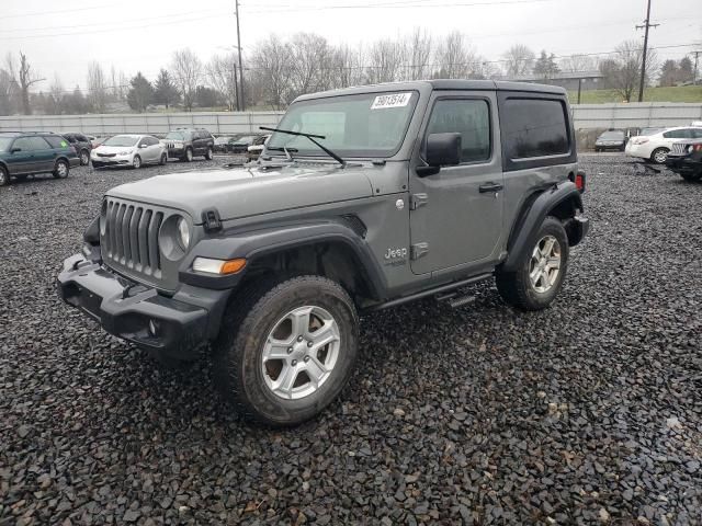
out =
{"type": "Polygon", "coordinates": [[[568,237],[561,220],[548,216],[542,222],[536,232],[533,244],[522,255],[518,263],[517,271],[505,272],[498,270],[496,273],[497,289],[502,299],[509,305],[522,310],[542,310],[551,305],[558,295],[568,267],[568,237]],[[551,289],[539,293],[534,289],[529,278],[529,266],[535,243],[545,236],[553,236],[561,245],[561,272],[551,289]]]}

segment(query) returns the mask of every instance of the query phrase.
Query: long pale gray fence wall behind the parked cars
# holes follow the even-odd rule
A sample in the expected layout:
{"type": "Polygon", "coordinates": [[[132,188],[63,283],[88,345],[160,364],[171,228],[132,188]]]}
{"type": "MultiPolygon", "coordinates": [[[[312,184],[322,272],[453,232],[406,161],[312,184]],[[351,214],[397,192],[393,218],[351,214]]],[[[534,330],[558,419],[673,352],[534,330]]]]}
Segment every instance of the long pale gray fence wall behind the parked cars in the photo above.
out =
{"type": "MultiPolygon", "coordinates": [[[[165,134],[177,127],[204,127],[213,134],[259,133],[275,126],[284,112],[182,112],[0,117],[0,130],[82,132],[91,135],[165,134]]],[[[573,105],[576,129],[687,126],[702,121],[702,102],[573,105]]]]}

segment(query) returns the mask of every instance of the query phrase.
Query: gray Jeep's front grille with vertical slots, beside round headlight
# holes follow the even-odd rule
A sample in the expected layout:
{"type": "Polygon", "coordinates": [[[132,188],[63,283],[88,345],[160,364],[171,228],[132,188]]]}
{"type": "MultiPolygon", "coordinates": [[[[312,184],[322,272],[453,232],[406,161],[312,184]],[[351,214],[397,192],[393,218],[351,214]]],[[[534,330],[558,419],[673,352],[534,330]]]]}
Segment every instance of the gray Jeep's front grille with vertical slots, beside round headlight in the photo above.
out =
{"type": "Polygon", "coordinates": [[[160,277],[158,231],[163,213],[109,197],[104,208],[102,255],[122,268],[160,277]]]}

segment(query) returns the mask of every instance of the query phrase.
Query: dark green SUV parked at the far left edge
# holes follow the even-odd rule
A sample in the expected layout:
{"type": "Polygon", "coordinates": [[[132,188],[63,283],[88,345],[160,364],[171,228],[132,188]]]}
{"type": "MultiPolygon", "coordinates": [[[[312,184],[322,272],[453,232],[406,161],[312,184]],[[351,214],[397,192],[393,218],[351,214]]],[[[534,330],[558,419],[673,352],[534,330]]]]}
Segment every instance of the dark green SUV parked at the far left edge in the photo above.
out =
{"type": "Polygon", "coordinates": [[[0,133],[0,186],[10,178],[24,179],[34,173],[50,173],[65,179],[80,164],[76,150],[60,135],[50,132],[0,133]]]}

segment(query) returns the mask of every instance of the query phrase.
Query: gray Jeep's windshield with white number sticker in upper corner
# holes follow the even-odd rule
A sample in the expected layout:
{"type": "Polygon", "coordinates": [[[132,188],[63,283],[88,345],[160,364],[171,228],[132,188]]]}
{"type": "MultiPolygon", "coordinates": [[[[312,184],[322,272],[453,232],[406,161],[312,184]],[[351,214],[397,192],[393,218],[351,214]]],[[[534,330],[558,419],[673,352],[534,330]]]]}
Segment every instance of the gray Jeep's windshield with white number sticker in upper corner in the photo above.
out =
{"type": "MultiPolygon", "coordinates": [[[[399,149],[419,95],[416,92],[363,93],[313,99],[290,106],[280,129],[322,135],[321,145],[340,157],[390,157],[399,149]]],[[[271,150],[326,156],[305,137],[274,133],[271,150]]]]}

